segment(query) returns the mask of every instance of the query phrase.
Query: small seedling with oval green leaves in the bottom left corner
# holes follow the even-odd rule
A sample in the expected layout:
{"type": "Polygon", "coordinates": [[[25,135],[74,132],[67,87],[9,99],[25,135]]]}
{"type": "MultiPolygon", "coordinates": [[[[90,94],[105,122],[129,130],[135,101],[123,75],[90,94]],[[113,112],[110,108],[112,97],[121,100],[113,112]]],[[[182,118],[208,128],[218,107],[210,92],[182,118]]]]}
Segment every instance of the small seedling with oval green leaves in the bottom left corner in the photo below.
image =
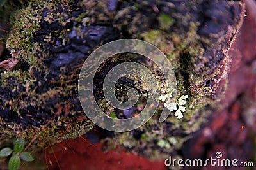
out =
{"type": "Polygon", "coordinates": [[[16,170],[20,167],[21,160],[25,162],[32,162],[34,160],[33,156],[29,152],[24,151],[25,141],[19,138],[14,143],[13,150],[11,148],[3,148],[0,150],[0,157],[8,157],[12,154],[9,160],[8,167],[10,170],[16,170]]]}

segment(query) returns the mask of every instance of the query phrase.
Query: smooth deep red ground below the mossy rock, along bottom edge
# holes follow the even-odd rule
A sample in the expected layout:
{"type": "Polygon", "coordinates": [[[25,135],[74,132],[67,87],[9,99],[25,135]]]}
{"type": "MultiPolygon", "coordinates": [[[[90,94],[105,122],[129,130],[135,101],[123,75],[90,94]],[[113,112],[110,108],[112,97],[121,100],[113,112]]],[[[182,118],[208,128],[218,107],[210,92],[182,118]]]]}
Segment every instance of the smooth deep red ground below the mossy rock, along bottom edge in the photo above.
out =
{"type": "Polygon", "coordinates": [[[86,139],[76,138],[63,141],[47,149],[49,169],[164,169],[161,161],[150,161],[125,150],[102,149],[102,143],[92,144],[86,139]],[[56,162],[58,160],[58,162],[56,162]],[[50,163],[51,162],[51,163],[50,163]],[[59,165],[58,165],[59,164],[59,165]]]}

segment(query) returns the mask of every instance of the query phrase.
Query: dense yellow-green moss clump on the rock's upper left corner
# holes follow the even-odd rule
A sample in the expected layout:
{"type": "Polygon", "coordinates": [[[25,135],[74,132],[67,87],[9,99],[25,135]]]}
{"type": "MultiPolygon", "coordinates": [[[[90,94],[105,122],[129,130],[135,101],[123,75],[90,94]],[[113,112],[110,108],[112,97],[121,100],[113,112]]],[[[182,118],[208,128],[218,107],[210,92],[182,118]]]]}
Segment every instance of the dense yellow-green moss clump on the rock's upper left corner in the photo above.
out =
{"type": "Polygon", "coordinates": [[[30,5],[18,10],[15,17],[11,19],[14,29],[6,41],[6,48],[11,49],[12,56],[15,59],[26,61],[31,66],[36,64],[37,43],[30,43],[30,38],[33,37],[33,32],[40,29],[39,14],[40,10],[33,9],[30,5]],[[16,16],[19,16],[19,20],[16,16]]]}

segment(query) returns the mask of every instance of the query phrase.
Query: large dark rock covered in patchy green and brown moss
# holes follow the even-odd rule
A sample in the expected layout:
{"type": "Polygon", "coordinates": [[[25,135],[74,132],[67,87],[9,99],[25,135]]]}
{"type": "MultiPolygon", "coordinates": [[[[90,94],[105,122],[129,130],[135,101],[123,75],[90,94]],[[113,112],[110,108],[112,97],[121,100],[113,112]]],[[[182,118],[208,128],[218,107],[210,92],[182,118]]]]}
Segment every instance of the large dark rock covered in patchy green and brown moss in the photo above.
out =
{"type": "Polygon", "coordinates": [[[53,141],[90,131],[93,124],[77,94],[84,60],[109,41],[143,39],[172,62],[177,96],[189,96],[187,111],[182,120],[172,114],[163,123],[156,113],[139,129],[105,140],[146,157],[177,155],[211,107],[219,106],[231,60],[227,51],[243,13],[240,1],[32,1],[13,15],[6,42],[24,67],[1,70],[1,127],[15,136],[41,133],[53,141]]]}

